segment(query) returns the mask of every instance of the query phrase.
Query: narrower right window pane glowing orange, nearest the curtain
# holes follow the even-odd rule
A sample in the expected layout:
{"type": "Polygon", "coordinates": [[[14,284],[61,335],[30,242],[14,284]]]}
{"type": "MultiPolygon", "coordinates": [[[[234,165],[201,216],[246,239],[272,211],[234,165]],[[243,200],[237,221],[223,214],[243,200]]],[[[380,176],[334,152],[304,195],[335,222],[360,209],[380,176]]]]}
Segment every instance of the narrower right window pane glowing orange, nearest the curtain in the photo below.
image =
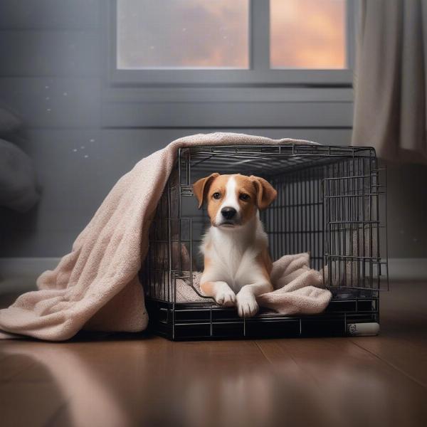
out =
{"type": "Polygon", "coordinates": [[[345,0],[270,0],[271,68],[346,68],[345,0]]]}

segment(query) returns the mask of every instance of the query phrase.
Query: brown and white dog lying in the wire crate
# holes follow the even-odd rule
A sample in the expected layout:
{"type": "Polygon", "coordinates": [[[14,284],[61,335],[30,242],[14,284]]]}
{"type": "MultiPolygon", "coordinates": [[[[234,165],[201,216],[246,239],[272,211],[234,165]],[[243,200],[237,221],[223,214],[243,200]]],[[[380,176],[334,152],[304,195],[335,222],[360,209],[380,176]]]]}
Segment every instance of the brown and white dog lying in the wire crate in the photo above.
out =
{"type": "Polygon", "coordinates": [[[211,228],[204,236],[201,290],[218,305],[237,305],[238,315],[258,312],[257,295],[273,290],[268,238],[258,209],[277,192],[258,176],[211,174],[194,184],[199,209],[207,203],[211,228]]]}

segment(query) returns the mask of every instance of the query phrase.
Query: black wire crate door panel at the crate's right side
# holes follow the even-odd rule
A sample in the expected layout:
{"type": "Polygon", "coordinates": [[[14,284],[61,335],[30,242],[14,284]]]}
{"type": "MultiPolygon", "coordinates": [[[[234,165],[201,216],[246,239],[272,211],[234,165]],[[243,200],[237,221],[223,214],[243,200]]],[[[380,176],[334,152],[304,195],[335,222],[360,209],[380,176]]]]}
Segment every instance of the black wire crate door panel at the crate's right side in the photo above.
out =
{"type": "Polygon", "coordinates": [[[352,159],[322,181],[325,280],[329,287],[388,289],[385,169],[352,159]]]}

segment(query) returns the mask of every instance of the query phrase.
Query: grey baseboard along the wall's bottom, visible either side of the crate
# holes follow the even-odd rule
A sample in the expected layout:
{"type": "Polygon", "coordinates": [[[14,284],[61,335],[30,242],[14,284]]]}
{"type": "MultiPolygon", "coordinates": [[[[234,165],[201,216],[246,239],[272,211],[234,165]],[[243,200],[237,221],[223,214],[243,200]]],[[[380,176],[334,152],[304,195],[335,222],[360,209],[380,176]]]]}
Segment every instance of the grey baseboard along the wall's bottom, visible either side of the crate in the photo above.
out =
{"type": "MultiPolygon", "coordinates": [[[[36,289],[36,279],[52,270],[60,258],[0,258],[0,292],[36,289]]],[[[427,258],[390,258],[390,280],[426,280],[427,258]]]]}

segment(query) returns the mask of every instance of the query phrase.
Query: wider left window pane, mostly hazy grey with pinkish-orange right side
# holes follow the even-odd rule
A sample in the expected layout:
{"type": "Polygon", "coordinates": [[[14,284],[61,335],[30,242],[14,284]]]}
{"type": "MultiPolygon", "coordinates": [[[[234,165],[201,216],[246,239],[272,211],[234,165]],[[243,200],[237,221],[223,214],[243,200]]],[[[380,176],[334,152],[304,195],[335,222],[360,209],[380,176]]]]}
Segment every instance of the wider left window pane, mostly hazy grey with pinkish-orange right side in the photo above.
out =
{"type": "Polygon", "coordinates": [[[117,68],[248,68],[249,0],[117,0],[117,68]]]}

